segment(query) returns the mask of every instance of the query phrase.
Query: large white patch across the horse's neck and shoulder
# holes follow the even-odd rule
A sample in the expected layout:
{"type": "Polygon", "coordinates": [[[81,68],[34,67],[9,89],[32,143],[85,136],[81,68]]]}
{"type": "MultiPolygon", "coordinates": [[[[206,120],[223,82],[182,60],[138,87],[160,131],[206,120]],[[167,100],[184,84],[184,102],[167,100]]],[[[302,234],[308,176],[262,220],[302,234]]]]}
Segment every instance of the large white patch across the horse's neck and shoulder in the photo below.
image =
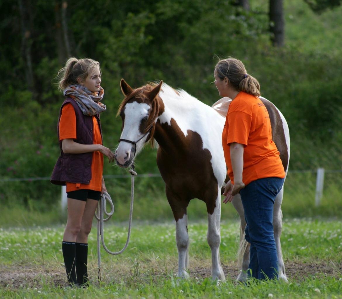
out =
{"type": "Polygon", "coordinates": [[[185,136],[187,136],[188,130],[201,136],[203,149],[205,148],[211,153],[214,175],[221,186],[226,177],[226,164],[221,143],[225,119],[217,117],[217,112],[214,109],[198,101],[186,91],[175,91],[165,83],[161,86],[159,96],[165,106],[164,112],[158,117],[160,123],[171,125],[173,118],[185,136]]]}

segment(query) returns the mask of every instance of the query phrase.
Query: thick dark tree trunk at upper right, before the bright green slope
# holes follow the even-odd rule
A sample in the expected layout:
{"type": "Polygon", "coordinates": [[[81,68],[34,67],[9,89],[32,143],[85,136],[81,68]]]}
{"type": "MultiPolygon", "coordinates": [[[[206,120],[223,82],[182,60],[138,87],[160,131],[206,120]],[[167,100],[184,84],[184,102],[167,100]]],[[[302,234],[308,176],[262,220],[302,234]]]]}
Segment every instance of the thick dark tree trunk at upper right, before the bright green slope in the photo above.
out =
{"type": "Polygon", "coordinates": [[[282,0],[269,0],[269,31],[273,46],[284,46],[284,10],[282,0]]]}

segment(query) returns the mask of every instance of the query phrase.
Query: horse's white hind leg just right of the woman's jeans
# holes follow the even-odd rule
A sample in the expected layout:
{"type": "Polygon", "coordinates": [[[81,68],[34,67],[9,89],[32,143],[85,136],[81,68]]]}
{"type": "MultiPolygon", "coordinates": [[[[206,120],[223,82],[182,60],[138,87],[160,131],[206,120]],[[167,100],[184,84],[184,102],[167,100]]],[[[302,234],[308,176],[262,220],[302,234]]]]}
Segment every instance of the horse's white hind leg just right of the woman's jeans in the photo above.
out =
{"type": "Polygon", "coordinates": [[[280,192],[277,194],[274,201],[273,208],[273,231],[274,231],[274,239],[277,247],[277,255],[278,255],[278,276],[279,279],[282,279],[287,282],[287,277],[285,274],[285,265],[284,260],[282,258],[281,252],[281,244],[280,244],[280,235],[282,230],[282,212],[281,212],[281,202],[282,197],[284,195],[284,186],[281,188],[280,192]]]}

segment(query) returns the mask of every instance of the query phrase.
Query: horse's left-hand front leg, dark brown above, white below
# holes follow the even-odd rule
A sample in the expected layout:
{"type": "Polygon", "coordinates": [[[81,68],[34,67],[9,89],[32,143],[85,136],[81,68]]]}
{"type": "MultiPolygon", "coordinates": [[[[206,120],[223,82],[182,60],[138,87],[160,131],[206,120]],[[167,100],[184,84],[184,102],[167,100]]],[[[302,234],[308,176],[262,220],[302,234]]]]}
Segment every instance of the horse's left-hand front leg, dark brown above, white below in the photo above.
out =
{"type": "Polygon", "coordinates": [[[178,250],[178,273],[177,277],[188,278],[189,267],[189,236],[188,218],[186,208],[189,200],[181,199],[166,187],[166,196],[171,206],[174,219],[176,220],[176,244],[178,250]]]}

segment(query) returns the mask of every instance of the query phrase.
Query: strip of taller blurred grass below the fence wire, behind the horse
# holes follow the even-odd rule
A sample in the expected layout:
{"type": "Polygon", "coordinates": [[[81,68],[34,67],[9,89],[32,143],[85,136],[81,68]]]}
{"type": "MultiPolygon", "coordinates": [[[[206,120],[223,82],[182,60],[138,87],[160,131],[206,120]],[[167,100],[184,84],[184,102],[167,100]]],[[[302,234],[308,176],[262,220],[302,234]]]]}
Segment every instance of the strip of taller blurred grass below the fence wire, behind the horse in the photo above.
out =
{"type": "MultiPolygon", "coordinates": [[[[30,184],[28,182],[26,184],[30,184]]],[[[323,197],[319,206],[315,206],[316,172],[288,173],[285,181],[284,199],[281,205],[284,219],[294,217],[338,217],[342,218],[341,201],[342,172],[326,173],[323,197]]],[[[106,186],[115,205],[115,221],[127,221],[130,206],[130,178],[106,179],[106,186]]],[[[55,196],[50,204],[38,200],[28,200],[27,206],[13,203],[1,205],[0,227],[27,227],[58,224],[66,221],[66,211],[60,208],[61,187],[48,181],[42,188],[54,188],[55,196]],[[43,205],[44,204],[44,205],[43,205]]],[[[164,183],[160,177],[135,179],[133,219],[139,221],[173,220],[167,201],[164,183]]],[[[237,213],[231,204],[222,205],[222,220],[237,219],[237,213]]],[[[188,206],[190,219],[206,220],[207,210],[204,202],[193,199],[188,206]]]]}

